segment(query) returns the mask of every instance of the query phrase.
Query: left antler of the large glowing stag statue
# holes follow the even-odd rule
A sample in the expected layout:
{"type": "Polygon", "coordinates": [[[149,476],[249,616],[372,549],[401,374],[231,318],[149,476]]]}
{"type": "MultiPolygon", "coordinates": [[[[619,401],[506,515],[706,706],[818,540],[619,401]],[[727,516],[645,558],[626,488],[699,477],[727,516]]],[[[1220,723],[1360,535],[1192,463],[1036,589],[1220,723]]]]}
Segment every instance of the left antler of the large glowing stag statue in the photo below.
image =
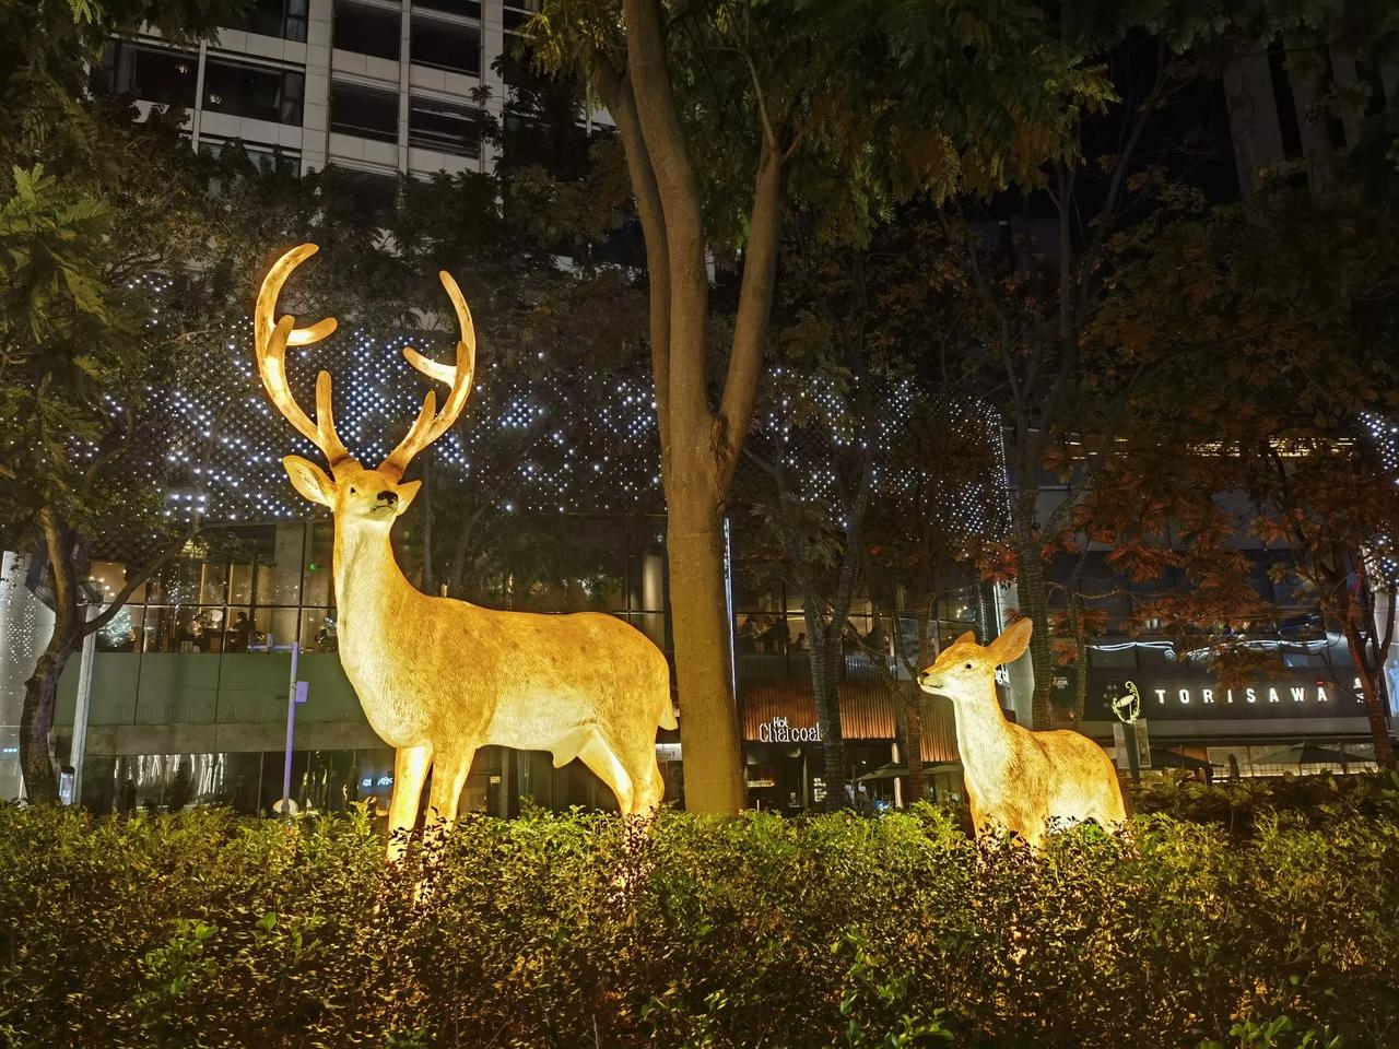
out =
{"type": "Polygon", "coordinates": [[[318,320],[311,327],[297,327],[297,319],[284,316],[273,322],[277,309],[277,297],[287,277],[301,263],[318,250],[313,243],[304,243],[292,248],[276,263],[263,278],[262,290],[257,292],[257,308],[253,313],[253,345],[257,357],[257,375],[262,376],[267,396],[287,421],[294,425],[302,436],[320,449],[332,471],[341,463],[351,459],[346,446],[336,435],[336,421],[330,411],[330,373],[320,372],[316,376],[316,421],[312,422],[306,413],[297,404],[287,385],[287,347],[309,345],[336,330],[336,319],[326,317],[318,320]]]}

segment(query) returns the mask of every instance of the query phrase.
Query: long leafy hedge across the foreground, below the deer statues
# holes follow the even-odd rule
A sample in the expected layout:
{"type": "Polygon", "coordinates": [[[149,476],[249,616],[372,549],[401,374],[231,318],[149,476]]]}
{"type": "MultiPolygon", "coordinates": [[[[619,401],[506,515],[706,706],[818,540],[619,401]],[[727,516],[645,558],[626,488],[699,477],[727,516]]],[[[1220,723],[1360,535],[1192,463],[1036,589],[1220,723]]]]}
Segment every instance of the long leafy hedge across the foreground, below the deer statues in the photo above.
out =
{"type": "Polygon", "coordinates": [[[1038,857],[929,806],[382,848],[364,813],[0,808],[0,1045],[1399,1042],[1399,831],[1354,807],[1038,857]]]}

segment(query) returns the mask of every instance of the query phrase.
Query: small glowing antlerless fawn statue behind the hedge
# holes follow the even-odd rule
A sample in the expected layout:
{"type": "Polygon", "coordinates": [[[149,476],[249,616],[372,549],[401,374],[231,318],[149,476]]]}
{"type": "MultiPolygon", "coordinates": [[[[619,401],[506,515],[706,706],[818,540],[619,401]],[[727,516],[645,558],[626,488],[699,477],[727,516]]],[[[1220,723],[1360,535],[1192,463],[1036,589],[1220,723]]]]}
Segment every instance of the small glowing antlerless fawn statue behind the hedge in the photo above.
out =
{"type": "Polygon", "coordinates": [[[1056,824],[1095,820],[1115,829],[1126,811],[1116,769],[1093,740],[1063,729],[1030,732],[1002,713],[996,667],[1020,657],[1032,629],[1020,620],[985,648],[968,631],[918,676],[918,685],[953,701],[977,834],[1004,827],[1038,849],[1056,824]]]}

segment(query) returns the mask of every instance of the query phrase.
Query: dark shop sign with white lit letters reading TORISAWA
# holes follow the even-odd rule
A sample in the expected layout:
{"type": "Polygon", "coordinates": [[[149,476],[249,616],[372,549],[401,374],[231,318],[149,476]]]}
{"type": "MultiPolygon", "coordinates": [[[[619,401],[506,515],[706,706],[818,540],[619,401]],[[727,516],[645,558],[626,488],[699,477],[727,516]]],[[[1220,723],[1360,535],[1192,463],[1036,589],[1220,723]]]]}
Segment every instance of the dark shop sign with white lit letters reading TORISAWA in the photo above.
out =
{"type": "Polygon", "coordinates": [[[1244,688],[1202,681],[1119,680],[1090,691],[1097,705],[1090,718],[1116,718],[1114,705],[1121,705],[1133,690],[1142,695],[1140,716],[1149,719],[1363,718],[1365,713],[1358,678],[1349,687],[1314,678],[1259,681],[1244,688]]]}

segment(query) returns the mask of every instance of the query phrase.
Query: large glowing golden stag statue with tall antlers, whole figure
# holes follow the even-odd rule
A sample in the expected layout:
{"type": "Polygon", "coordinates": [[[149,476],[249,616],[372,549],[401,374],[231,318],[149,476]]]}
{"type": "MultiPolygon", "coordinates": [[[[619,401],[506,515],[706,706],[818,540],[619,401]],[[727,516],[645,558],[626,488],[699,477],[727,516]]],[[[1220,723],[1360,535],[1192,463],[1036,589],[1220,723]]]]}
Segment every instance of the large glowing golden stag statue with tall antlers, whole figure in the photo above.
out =
{"type": "MultiPolygon", "coordinates": [[[[315,422],[287,383],[288,345],[306,345],[336,329],[333,317],[297,327],[273,319],[290,273],[315,255],[301,245],[263,280],[255,315],[257,373],[277,410],[326,457],[327,474],[299,456],[283,466],[292,485],[334,512],[334,586],[340,663],[369,725],[397,748],[389,829],[411,829],[428,769],[429,806],[450,825],[478,747],[546,750],[560,768],[574,758],[611,787],[624,814],[660,804],[656,726],[676,727],[670,670],[660,650],[613,615],[494,611],[429,597],[404,578],[389,544],[393,522],[420,481],[404,481],[414,455],[460,415],[476,369],[476,333],[456,283],[439,274],[456,311],[456,364],[404,357],[449,392],[436,408],[428,392],[407,435],[375,469],[360,464],[336,436],[330,376],[316,379],[315,422]]],[[[389,855],[404,835],[390,834],[389,855]]]]}

